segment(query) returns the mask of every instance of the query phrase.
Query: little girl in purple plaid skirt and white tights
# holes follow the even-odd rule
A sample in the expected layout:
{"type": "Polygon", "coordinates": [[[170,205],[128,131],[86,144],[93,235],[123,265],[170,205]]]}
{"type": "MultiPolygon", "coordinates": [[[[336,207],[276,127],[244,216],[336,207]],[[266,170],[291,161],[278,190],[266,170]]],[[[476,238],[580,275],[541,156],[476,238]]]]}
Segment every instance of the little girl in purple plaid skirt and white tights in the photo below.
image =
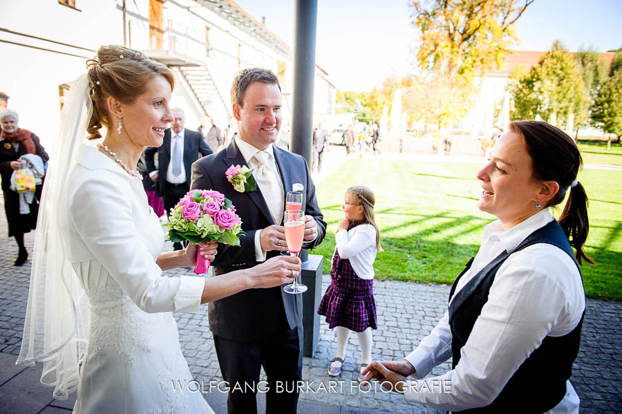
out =
{"type": "MultiPolygon", "coordinates": [[[[326,317],[329,328],[337,328],[337,356],[328,367],[328,375],[333,377],[341,373],[350,330],[357,332],[361,344],[361,370],[371,363],[371,330],[377,329],[373,264],[376,253],[382,251],[374,203],[372,191],[357,186],[346,190],[341,205],[346,218],[337,224],[330,286],[317,310],[326,317]]],[[[359,370],[359,381],[362,379],[359,370]]]]}

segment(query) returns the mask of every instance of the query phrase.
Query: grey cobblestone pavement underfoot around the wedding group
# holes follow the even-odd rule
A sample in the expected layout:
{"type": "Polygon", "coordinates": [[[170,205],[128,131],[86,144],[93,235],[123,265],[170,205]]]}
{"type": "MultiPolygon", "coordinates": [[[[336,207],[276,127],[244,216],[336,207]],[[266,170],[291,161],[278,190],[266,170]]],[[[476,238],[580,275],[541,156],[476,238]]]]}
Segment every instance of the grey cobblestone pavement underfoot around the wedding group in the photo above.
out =
{"type": "MultiPolygon", "coordinates": [[[[0,214],[0,217],[0,234],[6,234],[3,214],[0,214]]],[[[26,234],[29,252],[32,252],[33,240],[33,232],[26,234]]],[[[167,247],[170,248],[169,243],[167,247]]],[[[0,356],[7,357],[8,354],[15,357],[19,354],[30,280],[30,261],[21,267],[13,267],[12,263],[16,256],[15,241],[6,236],[0,238],[0,354],[3,354],[0,356]]],[[[165,273],[173,276],[190,272],[190,269],[180,269],[165,273]]],[[[323,290],[326,290],[329,281],[328,275],[323,276],[323,290]]],[[[375,298],[379,329],[374,331],[373,358],[401,359],[410,352],[413,344],[424,337],[433,328],[437,319],[442,317],[448,294],[449,287],[444,285],[376,281],[375,298]]],[[[200,312],[194,314],[176,313],[174,316],[178,322],[182,350],[193,375],[204,382],[211,379],[220,380],[214,343],[207,325],[207,306],[202,306],[200,312]]],[[[621,317],[621,302],[588,299],[581,350],[575,361],[571,379],[581,397],[581,413],[622,412],[621,317]]],[[[326,407],[332,407],[336,409],[327,409],[326,412],[440,413],[420,404],[406,403],[401,395],[365,392],[368,391],[366,388],[359,388],[356,385],[356,377],[360,348],[356,335],[350,337],[346,364],[343,366],[341,377],[329,377],[326,368],[328,361],[334,357],[335,349],[334,331],[328,329],[321,318],[317,352],[313,358],[304,358],[303,379],[308,382],[314,381],[314,384],[323,382],[327,388],[330,380],[341,379],[344,381],[343,393],[323,391],[301,393],[301,402],[330,404],[330,406],[317,405],[315,407],[323,409],[317,408],[310,412],[323,412],[326,407]],[[354,388],[350,386],[351,381],[354,381],[354,388]]],[[[449,363],[442,364],[433,370],[433,375],[439,375],[448,369],[449,363]]],[[[31,382],[37,381],[36,375],[31,377],[31,382]]],[[[1,391],[9,379],[10,377],[0,373],[0,398],[1,391]]],[[[46,395],[51,395],[50,388],[39,388],[47,393],[46,395]]],[[[26,395],[23,398],[26,399],[26,395]]],[[[224,404],[224,398],[218,401],[224,404]]],[[[67,404],[59,406],[70,408],[67,404]]],[[[53,413],[60,412],[59,410],[60,408],[48,406],[42,412],[53,413]]],[[[222,408],[220,410],[222,411],[222,408]]],[[[15,412],[26,413],[23,409],[17,408],[15,412]]],[[[32,412],[39,412],[39,409],[32,412]]]]}

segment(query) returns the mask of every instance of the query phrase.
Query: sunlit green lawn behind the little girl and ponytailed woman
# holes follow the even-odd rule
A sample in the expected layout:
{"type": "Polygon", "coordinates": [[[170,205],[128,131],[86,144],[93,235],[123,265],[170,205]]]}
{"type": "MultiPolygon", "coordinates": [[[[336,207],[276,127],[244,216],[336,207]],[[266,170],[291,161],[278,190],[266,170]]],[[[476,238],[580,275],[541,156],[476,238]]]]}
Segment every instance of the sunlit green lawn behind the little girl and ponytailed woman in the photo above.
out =
{"type": "MultiPolygon", "coordinates": [[[[317,189],[328,222],[328,234],[315,251],[326,258],[323,271],[330,272],[333,232],[343,218],[343,191],[366,185],[375,192],[385,250],[377,256],[376,277],[452,283],[477,253],[484,225],[494,220],[476,206],[481,191],[475,179],[479,168],[479,164],[449,160],[347,160],[317,189]]],[[[597,262],[583,265],[585,291],[588,297],[622,299],[622,170],[589,169],[581,172],[579,180],[591,200],[586,251],[597,262]]]]}

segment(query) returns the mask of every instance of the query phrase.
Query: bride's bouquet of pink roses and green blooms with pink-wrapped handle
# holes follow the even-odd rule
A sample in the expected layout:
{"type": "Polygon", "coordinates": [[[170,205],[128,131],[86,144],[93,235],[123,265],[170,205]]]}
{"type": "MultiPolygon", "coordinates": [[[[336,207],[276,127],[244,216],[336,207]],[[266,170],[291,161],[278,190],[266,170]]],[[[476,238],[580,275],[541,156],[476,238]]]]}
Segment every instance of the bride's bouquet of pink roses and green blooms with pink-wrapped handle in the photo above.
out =
{"type": "MultiPolygon", "coordinates": [[[[173,243],[182,240],[200,243],[218,241],[226,245],[239,246],[242,221],[236,214],[231,200],[214,190],[191,190],[171,210],[169,238],[173,243]]],[[[197,253],[194,272],[207,272],[209,261],[197,253]]]]}

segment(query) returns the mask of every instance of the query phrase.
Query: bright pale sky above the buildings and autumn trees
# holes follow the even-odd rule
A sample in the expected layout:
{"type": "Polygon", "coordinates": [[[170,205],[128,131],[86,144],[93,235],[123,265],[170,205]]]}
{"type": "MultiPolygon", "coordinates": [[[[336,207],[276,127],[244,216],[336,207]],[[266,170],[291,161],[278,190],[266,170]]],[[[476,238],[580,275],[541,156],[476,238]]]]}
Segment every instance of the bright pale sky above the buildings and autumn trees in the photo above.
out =
{"type": "MultiPolygon", "coordinates": [[[[290,45],[294,0],[234,0],[290,45]]],[[[413,66],[417,29],[405,0],[318,0],[316,63],[341,91],[370,91],[413,66]]],[[[536,0],[518,19],[519,50],[622,47],[622,0],[536,0]]]]}

